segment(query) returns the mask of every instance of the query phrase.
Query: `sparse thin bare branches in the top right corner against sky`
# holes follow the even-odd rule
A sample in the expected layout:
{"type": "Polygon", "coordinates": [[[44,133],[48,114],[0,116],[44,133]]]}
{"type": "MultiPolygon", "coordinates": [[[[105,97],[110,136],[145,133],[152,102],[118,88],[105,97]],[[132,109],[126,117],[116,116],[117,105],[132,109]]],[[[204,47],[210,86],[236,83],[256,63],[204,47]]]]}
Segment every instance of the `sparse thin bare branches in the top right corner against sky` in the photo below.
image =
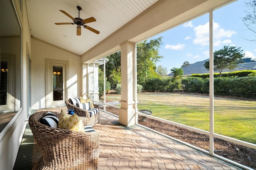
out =
{"type": "MultiPolygon", "coordinates": [[[[249,2],[245,3],[245,6],[248,10],[245,12],[247,15],[243,17],[244,25],[246,25],[247,29],[256,33],[256,0],[250,0],[249,2]]],[[[256,36],[256,35],[255,35],[256,36]]],[[[256,41],[256,39],[247,39],[250,41],[256,41]]]]}

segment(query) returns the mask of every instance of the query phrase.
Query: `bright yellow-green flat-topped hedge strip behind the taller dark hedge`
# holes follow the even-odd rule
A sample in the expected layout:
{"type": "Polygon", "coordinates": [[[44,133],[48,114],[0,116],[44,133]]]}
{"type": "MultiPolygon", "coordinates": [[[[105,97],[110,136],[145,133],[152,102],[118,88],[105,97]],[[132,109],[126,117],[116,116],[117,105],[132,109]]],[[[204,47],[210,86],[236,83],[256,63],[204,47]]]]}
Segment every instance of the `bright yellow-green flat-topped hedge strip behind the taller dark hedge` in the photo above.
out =
{"type": "MultiPolygon", "coordinates": [[[[255,76],[256,70],[242,70],[242,71],[232,71],[232,72],[223,72],[221,77],[246,77],[246,76],[255,76]]],[[[192,77],[201,77],[209,78],[209,74],[192,74],[192,77]]],[[[214,77],[220,77],[220,73],[214,73],[214,77]]]]}

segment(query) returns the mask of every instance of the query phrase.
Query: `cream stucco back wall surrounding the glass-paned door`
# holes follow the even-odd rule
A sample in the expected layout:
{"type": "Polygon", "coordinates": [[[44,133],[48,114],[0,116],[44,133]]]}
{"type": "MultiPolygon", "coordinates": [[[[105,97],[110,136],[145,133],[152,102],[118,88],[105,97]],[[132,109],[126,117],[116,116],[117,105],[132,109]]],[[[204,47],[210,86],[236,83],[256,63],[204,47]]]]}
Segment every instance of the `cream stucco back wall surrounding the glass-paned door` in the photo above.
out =
{"type": "Polygon", "coordinates": [[[76,97],[81,94],[81,57],[32,38],[32,109],[46,108],[45,59],[68,61],[66,98],[76,97]]]}

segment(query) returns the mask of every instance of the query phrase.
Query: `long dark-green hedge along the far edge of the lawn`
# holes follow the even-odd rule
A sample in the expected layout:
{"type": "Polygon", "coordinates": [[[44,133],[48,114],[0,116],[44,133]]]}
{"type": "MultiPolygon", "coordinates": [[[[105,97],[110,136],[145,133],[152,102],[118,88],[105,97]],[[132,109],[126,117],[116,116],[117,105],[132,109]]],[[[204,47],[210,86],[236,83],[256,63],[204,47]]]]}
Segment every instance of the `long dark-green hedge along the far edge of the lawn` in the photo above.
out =
{"type": "MultiPolygon", "coordinates": [[[[236,96],[256,99],[256,71],[244,70],[223,73],[222,77],[214,74],[214,94],[222,96],[236,96]]],[[[184,92],[209,94],[209,74],[193,74],[181,80],[184,92]]],[[[116,86],[118,93],[121,85],[116,86]]],[[[137,92],[142,87],[137,85],[137,92]]],[[[179,91],[172,78],[150,78],[147,81],[147,92],[175,92],[179,91]]]]}

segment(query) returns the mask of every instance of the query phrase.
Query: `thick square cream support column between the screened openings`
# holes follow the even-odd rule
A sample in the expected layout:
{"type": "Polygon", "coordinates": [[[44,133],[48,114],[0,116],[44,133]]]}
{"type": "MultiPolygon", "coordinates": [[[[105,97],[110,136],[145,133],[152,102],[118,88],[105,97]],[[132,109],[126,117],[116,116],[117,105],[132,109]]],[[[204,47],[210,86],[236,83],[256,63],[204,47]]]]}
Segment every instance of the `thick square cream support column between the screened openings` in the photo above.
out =
{"type": "Polygon", "coordinates": [[[134,60],[135,43],[126,41],[121,47],[121,107],[119,109],[119,123],[131,126],[135,124],[134,109],[134,60]]]}

